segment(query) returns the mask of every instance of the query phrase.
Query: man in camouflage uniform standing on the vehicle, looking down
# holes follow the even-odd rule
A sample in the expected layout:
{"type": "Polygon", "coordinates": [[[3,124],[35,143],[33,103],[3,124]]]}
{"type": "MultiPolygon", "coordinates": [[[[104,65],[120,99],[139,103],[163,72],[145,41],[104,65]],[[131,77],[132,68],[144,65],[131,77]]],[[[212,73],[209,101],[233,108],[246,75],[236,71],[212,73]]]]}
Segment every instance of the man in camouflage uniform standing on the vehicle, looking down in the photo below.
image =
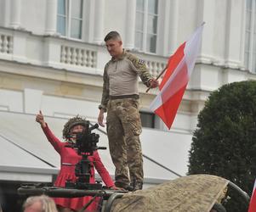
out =
{"type": "Polygon", "coordinates": [[[115,184],[126,190],[138,190],[143,186],[143,159],[139,134],[138,75],[145,86],[154,88],[153,79],[145,61],[122,48],[122,39],[117,31],[105,36],[105,46],[111,60],[105,64],[104,84],[98,122],[106,126],[111,159],[116,166],[115,184]]]}

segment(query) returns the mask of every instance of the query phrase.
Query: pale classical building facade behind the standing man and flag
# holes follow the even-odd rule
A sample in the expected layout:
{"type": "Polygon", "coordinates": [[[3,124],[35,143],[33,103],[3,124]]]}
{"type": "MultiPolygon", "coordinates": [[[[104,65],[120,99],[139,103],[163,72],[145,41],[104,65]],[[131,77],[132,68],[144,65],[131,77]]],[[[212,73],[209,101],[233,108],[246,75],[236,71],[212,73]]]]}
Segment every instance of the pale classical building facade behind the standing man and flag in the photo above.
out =
{"type": "Polygon", "coordinates": [[[146,93],[139,84],[145,153],[185,175],[209,93],[256,79],[255,10],[255,0],[0,0],[0,110],[96,121],[110,59],[105,34],[118,31],[123,46],[157,76],[204,21],[195,70],[170,131],[149,110],[157,90],[146,93]],[[154,152],[156,140],[162,153],[154,152]]]}

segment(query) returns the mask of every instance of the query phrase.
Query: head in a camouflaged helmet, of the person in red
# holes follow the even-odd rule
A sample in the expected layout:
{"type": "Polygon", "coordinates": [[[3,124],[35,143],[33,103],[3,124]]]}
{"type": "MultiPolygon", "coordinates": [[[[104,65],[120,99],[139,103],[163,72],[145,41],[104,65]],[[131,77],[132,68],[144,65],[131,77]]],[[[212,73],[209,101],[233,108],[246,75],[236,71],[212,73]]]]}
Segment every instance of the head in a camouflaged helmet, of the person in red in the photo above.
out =
{"type": "Polygon", "coordinates": [[[82,132],[87,125],[87,120],[83,119],[79,115],[69,119],[63,128],[62,135],[66,141],[73,141],[78,132],[82,132]]]}

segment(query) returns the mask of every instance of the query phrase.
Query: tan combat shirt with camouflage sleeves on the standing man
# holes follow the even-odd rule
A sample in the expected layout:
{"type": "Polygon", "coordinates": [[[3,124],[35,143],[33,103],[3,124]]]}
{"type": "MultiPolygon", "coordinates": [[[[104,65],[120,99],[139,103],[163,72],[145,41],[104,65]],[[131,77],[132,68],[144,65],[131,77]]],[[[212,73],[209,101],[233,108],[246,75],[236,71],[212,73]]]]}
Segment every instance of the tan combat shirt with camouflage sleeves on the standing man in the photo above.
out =
{"type": "Polygon", "coordinates": [[[128,51],[123,51],[122,57],[119,59],[112,58],[105,64],[103,93],[99,108],[106,109],[110,95],[139,95],[138,75],[146,86],[153,79],[144,60],[137,58],[128,51]]]}

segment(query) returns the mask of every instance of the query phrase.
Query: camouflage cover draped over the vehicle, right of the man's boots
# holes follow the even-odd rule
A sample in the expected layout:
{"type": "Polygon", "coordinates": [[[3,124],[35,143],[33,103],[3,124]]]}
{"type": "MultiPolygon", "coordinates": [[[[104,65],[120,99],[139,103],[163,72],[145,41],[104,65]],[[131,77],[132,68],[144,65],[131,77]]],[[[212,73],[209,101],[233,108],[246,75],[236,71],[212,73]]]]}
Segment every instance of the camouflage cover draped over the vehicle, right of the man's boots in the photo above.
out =
{"type": "Polygon", "coordinates": [[[150,187],[128,192],[117,198],[111,212],[208,212],[223,195],[228,180],[219,176],[184,176],[150,187]]]}

